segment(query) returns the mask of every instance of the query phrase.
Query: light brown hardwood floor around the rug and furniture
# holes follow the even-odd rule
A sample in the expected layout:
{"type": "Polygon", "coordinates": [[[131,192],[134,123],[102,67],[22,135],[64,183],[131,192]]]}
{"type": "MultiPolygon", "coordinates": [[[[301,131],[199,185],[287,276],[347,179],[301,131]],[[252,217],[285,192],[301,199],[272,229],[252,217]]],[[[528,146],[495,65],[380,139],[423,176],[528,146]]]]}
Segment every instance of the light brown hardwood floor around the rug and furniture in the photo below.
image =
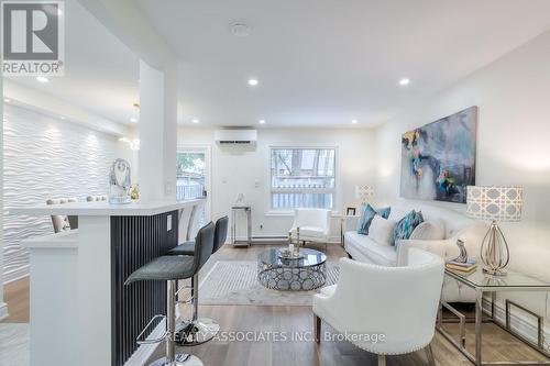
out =
{"type": "MultiPolygon", "coordinates": [[[[272,245],[254,245],[251,248],[224,246],[202,268],[206,275],[217,260],[255,260],[257,254],[272,245]]],[[[321,247],[319,247],[321,248],[321,247]]],[[[338,245],[329,245],[329,262],[345,256],[338,245]]],[[[10,318],[6,322],[29,322],[29,280],[23,279],[4,288],[10,318]]],[[[187,312],[188,309],[182,309],[187,312]]],[[[201,306],[200,317],[216,319],[222,332],[263,332],[261,334],[307,334],[312,335],[314,320],[310,307],[254,307],[254,306],[201,306]],[[282,334],[282,333],[278,333],[282,334]]],[[[451,332],[458,332],[457,324],[448,324],[451,332]]],[[[331,332],[322,324],[322,332],[331,332]]],[[[484,358],[506,362],[510,359],[544,359],[514,336],[493,324],[484,325],[484,358]]],[[[473,324],[469,324],[466,344],[473,348],[473,324]]],[[[440,366],[472,365],[441,334],[436,332],[432,342],[433,355],[440,366]]],[[[346,342],[323,342],[317,345],[310,341],[270,342],[228,342],[213,340],[195,347],[182,347],[178,352],[188,352],[199,356],[206,366],[371,366],[377,358],[346,342]]],[[[164,353],[161,344],[152,359],[164,353]]],[[[388,366],[428,365],[426,353],[420,351],[405,356],[391,356],[388,366]]]]}

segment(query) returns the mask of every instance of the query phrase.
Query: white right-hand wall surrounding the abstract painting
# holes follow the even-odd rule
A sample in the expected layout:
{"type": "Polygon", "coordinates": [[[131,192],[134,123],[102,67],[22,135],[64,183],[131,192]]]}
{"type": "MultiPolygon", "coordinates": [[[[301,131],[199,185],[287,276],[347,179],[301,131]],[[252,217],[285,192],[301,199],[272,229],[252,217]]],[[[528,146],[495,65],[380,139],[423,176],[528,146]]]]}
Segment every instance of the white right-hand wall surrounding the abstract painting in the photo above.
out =
{"type": "MultiPolygon", "coordinates": [[[[544,33],[377,127],[378,200],[398,198],[403,132],[479,106],[476,184],[525,187],[522,221],[502,225],[510,268],[550,280],[549,60],[550,33],[544,33]]],[[[464,210],[463,204],[443,206],[464,210]]],[[[544,300],[534,300],[531,309],[544,313],[544,300]]]]}

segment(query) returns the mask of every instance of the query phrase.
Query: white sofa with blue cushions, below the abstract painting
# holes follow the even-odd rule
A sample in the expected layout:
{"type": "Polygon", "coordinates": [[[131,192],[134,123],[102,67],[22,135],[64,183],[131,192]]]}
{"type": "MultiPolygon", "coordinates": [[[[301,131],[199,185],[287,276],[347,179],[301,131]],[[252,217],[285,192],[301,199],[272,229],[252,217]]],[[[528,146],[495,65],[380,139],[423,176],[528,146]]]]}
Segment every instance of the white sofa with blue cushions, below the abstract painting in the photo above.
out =
{"type": "MultiPolygon", "coordinates": [[[[418,202],[399,202],[392,206],[391,220],[398,221],[410,210],[422,211],[425,221],[438,221],[443,225],[442,240],[404,240],[396,246],[376,243],[367,235],[358,234],[360,217],[348,217],[344,222],[344,247],[355,260],[383,266],[403,266],[407,264],[407,253],[411,247],[421,248],[452,259],[459,255],[457,240],[464,241],[470,257],[479,259],[480,245],[486,228],[483,223],[450,209],[418,202]]],[[[448,302],[472,302],[475,293],[455,280],[446,278],[443,300],[448,302]]]]}

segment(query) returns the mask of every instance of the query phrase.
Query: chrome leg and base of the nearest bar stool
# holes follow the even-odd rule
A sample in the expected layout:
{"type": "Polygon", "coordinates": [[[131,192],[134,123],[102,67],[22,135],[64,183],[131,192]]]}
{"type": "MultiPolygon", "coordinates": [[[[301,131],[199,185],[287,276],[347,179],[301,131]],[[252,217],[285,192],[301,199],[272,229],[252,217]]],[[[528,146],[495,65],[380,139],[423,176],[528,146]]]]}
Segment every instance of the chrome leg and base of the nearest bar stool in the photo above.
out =
{"type": "Polygon", "coordinates": [[[177,281],[168,281],[168,299],[166,306],[166,356],[158,358],[150,366],[204,366],[200,358],[189,354],[176,354],[176,290],[177,281]]]}

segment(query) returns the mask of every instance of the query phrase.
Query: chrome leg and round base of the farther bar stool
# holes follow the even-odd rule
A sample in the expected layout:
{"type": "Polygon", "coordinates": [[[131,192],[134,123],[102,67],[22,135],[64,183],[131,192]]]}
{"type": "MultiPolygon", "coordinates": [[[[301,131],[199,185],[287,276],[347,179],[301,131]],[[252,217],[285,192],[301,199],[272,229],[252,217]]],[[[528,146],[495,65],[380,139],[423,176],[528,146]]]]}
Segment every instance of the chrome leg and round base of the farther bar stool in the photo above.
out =
{"type": "Polygon", "coordinates": [[[220,331],[220,325],[210,318],[198,318],[199,313],[199,275],[191,279],[193,315],[191,320],[183,322],[176,330],[180,345],[194,346],[211,341],[220,331]]]}

